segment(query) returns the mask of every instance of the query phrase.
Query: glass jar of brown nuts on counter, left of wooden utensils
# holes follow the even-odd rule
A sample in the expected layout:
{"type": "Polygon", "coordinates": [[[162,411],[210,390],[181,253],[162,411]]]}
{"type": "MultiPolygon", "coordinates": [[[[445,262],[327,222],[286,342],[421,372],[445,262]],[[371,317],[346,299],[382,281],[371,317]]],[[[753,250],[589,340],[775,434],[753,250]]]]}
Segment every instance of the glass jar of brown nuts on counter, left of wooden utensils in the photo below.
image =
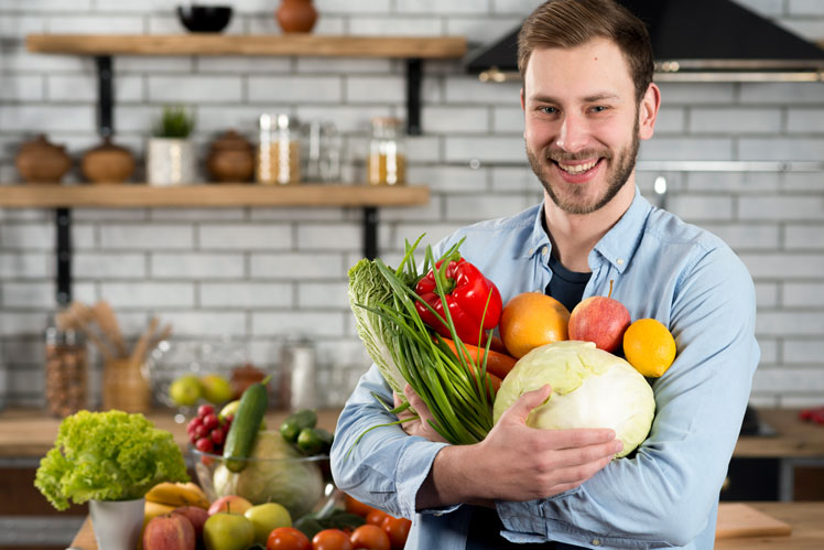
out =
{"type": "Polygon", "coordinates": [[[48,411],[59,418],[88,408],[86,339],[74,330],[45,332],[45,391],[48,411]]]}

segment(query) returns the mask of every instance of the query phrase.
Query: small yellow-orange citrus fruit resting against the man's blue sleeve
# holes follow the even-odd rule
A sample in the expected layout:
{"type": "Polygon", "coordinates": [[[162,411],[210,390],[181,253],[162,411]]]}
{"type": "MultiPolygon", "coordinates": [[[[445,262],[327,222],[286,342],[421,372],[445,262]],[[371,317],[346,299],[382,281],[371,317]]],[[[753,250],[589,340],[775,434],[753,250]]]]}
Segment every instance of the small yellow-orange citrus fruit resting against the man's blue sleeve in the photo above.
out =
{"type": "Polygon", "coordinates": [[[624,333],[624,356],[643,376],[658,378],[675,360],[675,338],[660,321],[639,319],[624,333]]]}

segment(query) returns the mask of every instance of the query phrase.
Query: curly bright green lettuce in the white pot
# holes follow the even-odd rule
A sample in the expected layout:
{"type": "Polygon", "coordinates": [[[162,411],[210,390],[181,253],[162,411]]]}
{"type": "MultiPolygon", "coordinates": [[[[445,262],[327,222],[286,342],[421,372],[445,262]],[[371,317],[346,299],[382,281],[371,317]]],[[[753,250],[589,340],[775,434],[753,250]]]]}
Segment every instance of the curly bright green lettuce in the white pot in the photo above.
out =
{"type": "Polygon", "coordinates": [[[161,482],[187,482],[172,434],[142,414],[79,411],[61,423],[34,486],[58,510],[68,500],[131,500],[161,482]]]}

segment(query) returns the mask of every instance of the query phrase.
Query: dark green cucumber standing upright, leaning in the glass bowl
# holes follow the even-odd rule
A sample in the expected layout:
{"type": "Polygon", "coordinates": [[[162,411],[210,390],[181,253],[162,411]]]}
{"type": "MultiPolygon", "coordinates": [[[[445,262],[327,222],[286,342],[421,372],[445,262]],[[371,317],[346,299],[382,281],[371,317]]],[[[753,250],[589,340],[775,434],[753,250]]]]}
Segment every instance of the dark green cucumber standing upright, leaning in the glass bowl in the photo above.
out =
{"type": "Polygon", "coordinates": [[[262,382],[249,386],[240,396],[240,405],[231,421],[229,433],[226,434],[224,444],[224,464],[232,472],[240,472],[246,467],[251,455],[254,438],[258,435],[263,414],[267,412],[267,378],[262,382]],[[240,460],[232,460],[240,459],[240,460]]]}

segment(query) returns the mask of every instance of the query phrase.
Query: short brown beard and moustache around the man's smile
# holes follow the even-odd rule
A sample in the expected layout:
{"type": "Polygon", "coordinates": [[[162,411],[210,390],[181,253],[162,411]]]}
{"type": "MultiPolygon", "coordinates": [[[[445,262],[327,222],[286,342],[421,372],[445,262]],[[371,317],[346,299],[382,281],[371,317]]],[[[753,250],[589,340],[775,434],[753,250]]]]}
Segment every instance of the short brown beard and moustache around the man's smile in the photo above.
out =
{"type": "Polygon", "coordinates": [[[624,187],[624,184],[626,184],[629,180],[632,170],[636,168],[636,158],[638,157],[638,148],[640,144],[640,140],[638,139],[638,130],[639,125],[638,118],[636,117],[635,128],[632,129],[632,142],[618,152],[615,163],[615,170],[611,175],[607,175],[607,188],[604,195],[593,204],[586,204],[583,202],[583,197],[586,193],[586,184],[570,184],[567,185],[567,188],[571,190],[571,193],[573,195],[572,198],[565,199],[559,197],[557,193],[553,191],[547,175],[543,173],[543,169],[549,169],[550,164],[553,161],[559,160],[586,160],[597,157],[599,159],[603,158],[604,161],[610,161],[612,160],[611,151],[582,151],[578,153],[550,152],[544,155],[542,162],[541,160],[539,160],[538,155],[530,150],[528,144],[527,158],[529,159],[529,163],[532,166],[532,171],[543,184],[543,188],[546,191],[546,194],[550,196],[550,198],[552,198],[552,202],[555,203],[559,208],[568,214],[589,214],[606,206],[607,203],[615,198],[615,195],[618,194],[621,187],[624,187]]]}

